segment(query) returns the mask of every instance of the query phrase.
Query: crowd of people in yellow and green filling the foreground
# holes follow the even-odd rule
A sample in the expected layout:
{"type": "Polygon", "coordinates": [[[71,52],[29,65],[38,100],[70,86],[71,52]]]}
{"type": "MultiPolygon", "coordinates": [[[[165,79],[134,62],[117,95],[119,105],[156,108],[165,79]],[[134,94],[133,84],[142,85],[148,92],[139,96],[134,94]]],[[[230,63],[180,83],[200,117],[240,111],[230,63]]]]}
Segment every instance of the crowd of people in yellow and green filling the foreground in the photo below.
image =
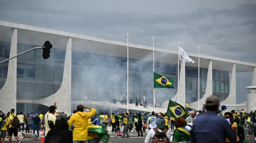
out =
{"type": "Polygon", "coordinates": [[[4,143],[6,134],[9,142],[12,141],[12,135],[21,142],[17,136],[18,132],[39,136],[39,129],[43,128],[45,142],[60,139],[64,143],[97,143],[102,134],[92,131],[90,124],[101,126],[100,128],[105,132],[104,135],[108,134],[108,125],[112,126],[112,133],[119,134],[121,137],[130,137],[131,131],[136,132],[140,137],[143,137],[143,133],[147,133],[144,142],[155,142],[159,139],[158,136],[168,142],[243,142],[246,133],[241,131],[244,127],[248,127],[248,135],[255,134],[253,131],[256,110],[246,113],[242,109],[238,113],[236,110],[229,111],[225,105],[222,105],[219,110],[219,99],[216,96],[206,99],[205,110],[197,112],[193,109],[185,119],[169,117],[166,113],[154,111],[98,114],[96,109],[82,105],[78,105],[72,115],[67,116],[56,109],[55,102],[45,115],[43,112],[38,115],[31,111],[25,116],[23,112],[14,113],[14,109],[11,109],[6,116],[1,113],[0,122],[5,124],[1,128],[0,142],[4,143]]]}

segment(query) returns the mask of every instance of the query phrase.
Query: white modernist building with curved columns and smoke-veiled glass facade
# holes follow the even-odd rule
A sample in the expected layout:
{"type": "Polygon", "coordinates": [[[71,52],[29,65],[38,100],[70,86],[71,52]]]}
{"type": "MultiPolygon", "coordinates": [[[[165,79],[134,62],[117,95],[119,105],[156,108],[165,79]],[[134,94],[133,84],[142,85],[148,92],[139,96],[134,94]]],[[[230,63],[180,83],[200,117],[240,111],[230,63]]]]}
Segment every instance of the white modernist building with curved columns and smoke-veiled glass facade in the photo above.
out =
{"type": "MultiPolygon", "coordinates": [[[[39,111],[42,105],[47,107],[56,101],[58,110],[70,114],[79,103],[102,105],[113,98],[119,101],[126,93],[125,42],[0,21],[0,61],[42,46],[47,40],[53,45],[49,59],[42,59],[42,49],[36,49],[0,65],[0,110],[39,111]]],[[[133,99],[136,95],[146,96],[153,103],[153,47],[129,43],[129,52],[129,93],[133,99]]],[[[198,62],[197,53],[188,55],[198,62]]],[[[178,51],[155,48],[156,72],[175,78],[174,89],[156,89],[157,103],[163,98],[164,107],[172,99],[181,105],[189,102],[191,108],[198,109],[208,96],[216,95],[226,106],[247,111],[256,108],[255,90],[247,94],[245,103],[236,104],[236,89],[245,88],[236,87],[236,73],[253,71],[255,86],[256,64],[200,55],[200,91],[198,65],[177,64],[178,51]]]]}

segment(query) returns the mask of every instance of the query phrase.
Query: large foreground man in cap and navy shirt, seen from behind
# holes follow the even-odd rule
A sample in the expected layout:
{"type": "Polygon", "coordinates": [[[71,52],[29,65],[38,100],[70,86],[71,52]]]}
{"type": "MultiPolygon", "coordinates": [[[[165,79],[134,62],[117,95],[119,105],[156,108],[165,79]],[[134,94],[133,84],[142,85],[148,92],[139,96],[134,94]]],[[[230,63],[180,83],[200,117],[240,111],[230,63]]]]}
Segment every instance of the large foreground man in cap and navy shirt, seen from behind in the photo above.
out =
{"type": "Polygon", "coordinates": [[[225,137],[228,137],[231,142],[236,142],[237,135],[226,119],[217,116],[219,105],[217,96],[206,98],[205,108],[207,112],[193,122],[190,131],[191,142],[225,142],[225,137]]]}

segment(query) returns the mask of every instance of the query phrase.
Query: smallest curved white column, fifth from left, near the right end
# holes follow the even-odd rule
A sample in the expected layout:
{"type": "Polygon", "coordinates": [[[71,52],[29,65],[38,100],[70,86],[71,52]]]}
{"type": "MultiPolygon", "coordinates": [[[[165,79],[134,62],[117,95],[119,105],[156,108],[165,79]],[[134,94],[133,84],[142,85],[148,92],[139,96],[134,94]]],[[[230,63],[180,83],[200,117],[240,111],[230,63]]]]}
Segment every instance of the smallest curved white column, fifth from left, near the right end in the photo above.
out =
{"type": "Polygon", "coordinates": [[[231,73],[231,82],[229,95],[226,100],[222,101],[220,105],[236,104],[237,103],[237,91],[236,91],[236,64],[233,64],[232,73],[231,73]]]}

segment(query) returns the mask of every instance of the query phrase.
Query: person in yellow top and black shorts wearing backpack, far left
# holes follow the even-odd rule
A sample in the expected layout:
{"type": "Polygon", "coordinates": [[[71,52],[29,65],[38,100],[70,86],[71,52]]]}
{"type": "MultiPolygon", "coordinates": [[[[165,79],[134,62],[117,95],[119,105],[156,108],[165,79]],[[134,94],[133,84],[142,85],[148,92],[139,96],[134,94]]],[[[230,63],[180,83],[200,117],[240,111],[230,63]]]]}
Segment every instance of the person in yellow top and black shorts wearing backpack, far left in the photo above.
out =
{"type": "Polygon", "coordinates": [[[12,142],[12,134],[14,135],[15,139],[20,142],[20,139],[18,137],[18,126],[19,126],[19,120],[17,115],[14,113],[14,109],[11,109],[11,115],[9,116],[10,118],[10,126],[9,126],[9,142],[12,142]]]}

